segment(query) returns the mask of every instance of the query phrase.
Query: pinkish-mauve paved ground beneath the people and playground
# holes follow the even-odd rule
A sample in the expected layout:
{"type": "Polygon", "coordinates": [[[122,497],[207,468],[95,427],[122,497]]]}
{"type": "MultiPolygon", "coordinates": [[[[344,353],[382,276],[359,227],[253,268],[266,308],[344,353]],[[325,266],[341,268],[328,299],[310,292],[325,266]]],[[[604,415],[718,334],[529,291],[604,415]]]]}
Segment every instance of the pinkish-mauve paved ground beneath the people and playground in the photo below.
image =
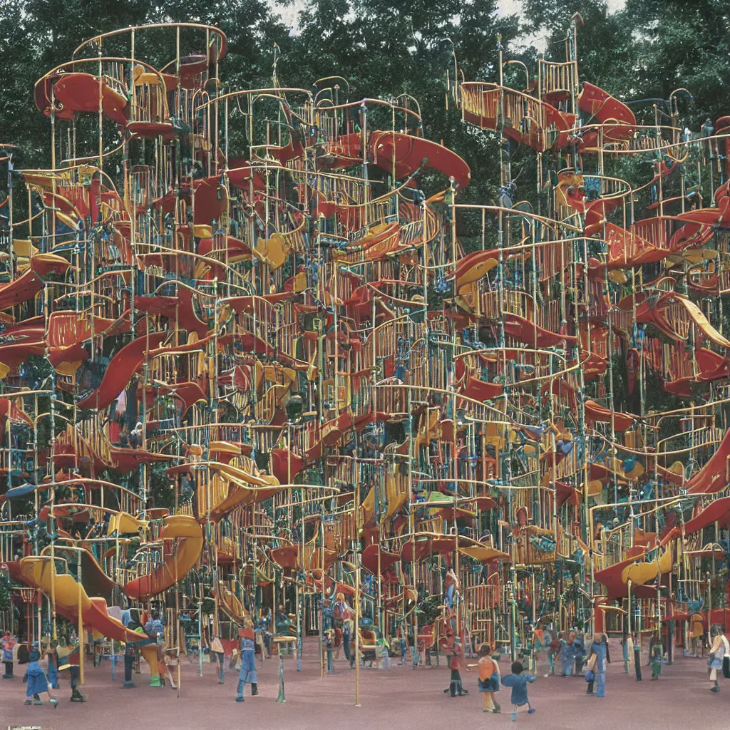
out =
{"type": "MultiPolygon", "coordinates": [[[[615,642],[612,642],[615,644],[615,642]]],[[[618,646],[612,647],[621,656],[618,646]]],[[[169,687],[146,685],[147,666],[136,675],[137,688],[123,690],[121,682],[111,681],[109,661],[93,668],[88,664],[85,704],[68,701],[68,681],[56,691],[58,709],[49,705],[26,707],[25,685],[20,677],[0,680],[0,728],[39,726],[53,730],[168,730],[198,727],[260,727],[310,730],[337,728],[360,730],[363,723],[376,729],[398,730],[483,730],[485,726],[510,728],[510,713],[485,715],[477,692],[475,673],[464,673],[469,696],[450,699],[442,690],[449,672],[442,664],[432,669],[393,666],[390,670],[364,669],[361,672],[361,707],[353,707],[355,672],[340,658],[336,673],[320,678],[316,642],[307,642],[302,671],[296,672],[292,658],[285,660],[286,703],[277,704],[277,660],[259,669],[259,695],[244,704],[234,702],[237,675],[226,676],[226,684],[215,682],[215,665],[204,664],[199,677],[196,664],[183,666],[183,691],[180,699],[169,687]]],[[[183,660],[185,661],[185,660],[183,660]]],[[[261,667],[261,665],[259,665],[261,667]]],[[[502,662],[503,672],[506,663],[502,662]]],[[[119,666],[121,669],[121,666],[119,666]]],[[[582,678],[564,679],[542,675],[530,687],[530,700],[537,712],[520,715],[518,726],[540,730],[593,730],[696,728],[726,730],[730,711],[730,682],[719,694],[712,694],[707,682],[704,659],[679,658],[664,666],[658,682],[645,679],[637,683],[625,675],[623,664],[609,666],[607,695],[604,699],[586,696],[582,678]]],[[[22,676],[22,675],[21,675],[22,676]]],[[[499,701],[504,710],[509,704],[503,688],[499,701]]]]}

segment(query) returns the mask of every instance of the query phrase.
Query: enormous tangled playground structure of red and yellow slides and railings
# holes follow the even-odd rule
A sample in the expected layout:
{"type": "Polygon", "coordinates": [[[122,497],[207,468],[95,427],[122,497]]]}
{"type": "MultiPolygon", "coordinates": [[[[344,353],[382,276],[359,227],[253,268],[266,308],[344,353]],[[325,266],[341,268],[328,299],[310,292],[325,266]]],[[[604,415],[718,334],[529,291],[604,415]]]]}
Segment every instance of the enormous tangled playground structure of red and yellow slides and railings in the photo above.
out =
{"type": "Polygon", "coordinates": [[[726,623],[730,118],[581,83],[581,22],[526,79],[454,55],[493,205],[415,99],[228,90],[209,26],[37,81],[50,168],[0,153],[6,623],[156,608],[190,654],[270,610],[414,666],[726,623]]]}

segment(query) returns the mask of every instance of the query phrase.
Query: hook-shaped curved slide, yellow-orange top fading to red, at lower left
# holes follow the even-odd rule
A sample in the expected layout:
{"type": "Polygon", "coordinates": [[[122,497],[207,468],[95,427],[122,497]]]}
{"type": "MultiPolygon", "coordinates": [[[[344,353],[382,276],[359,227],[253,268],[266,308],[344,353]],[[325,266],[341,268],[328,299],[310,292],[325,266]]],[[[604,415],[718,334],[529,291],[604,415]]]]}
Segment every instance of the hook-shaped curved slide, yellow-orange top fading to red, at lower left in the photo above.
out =
{"type": "Polygon", "coordinates": [[[203,529],[188,515],[166,517],[160,539],[177,539],[177,545],[153,572],[135,578],[123,587],[130,598],[142,601],[172,588],[176,580],[188,575],[203,550],[203,529]]]}

